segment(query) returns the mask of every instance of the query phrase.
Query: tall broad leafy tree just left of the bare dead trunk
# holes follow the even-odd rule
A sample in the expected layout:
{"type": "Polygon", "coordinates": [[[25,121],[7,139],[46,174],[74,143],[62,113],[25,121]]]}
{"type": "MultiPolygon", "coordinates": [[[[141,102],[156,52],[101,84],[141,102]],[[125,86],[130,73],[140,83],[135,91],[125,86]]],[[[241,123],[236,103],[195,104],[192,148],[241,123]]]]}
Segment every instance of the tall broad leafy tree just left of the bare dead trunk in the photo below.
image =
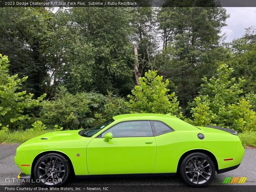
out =
{"type": "Polygon", "coordinates": [[[61,77],[69,92],[130,92],[133,52],[129,38],[133,30],[129,10],[74,7],[69,12],[73,44],[66,51],[61,77]]]}

